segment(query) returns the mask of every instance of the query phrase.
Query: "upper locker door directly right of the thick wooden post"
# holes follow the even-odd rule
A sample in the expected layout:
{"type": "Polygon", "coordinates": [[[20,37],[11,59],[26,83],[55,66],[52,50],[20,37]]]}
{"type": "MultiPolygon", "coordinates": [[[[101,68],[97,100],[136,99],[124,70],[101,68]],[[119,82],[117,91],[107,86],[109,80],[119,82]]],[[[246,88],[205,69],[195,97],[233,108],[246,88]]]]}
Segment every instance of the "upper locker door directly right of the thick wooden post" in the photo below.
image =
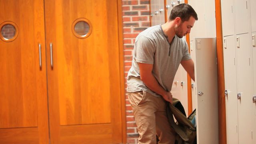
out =
{"type": "Polygon", "coordinates": [[[223,36],[234,35],[234,4],[233,0],[221,0],[222,34],[223,36]]]}

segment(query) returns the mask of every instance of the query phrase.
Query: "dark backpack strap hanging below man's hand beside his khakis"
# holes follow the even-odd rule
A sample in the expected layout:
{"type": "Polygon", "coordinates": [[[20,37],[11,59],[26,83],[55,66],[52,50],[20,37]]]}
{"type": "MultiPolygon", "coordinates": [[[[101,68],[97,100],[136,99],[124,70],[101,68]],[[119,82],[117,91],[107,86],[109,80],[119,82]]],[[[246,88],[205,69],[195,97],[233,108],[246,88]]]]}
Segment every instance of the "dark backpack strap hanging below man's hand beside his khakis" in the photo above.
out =
{"type": "Polygon", "coordinates": [[[170,122],[170,125],[172,126],[172,128],[175,130],[175,132],[177,134],[180,135],[180,137],[184,140],[184,141],[188,141],[188,136],[185,134],[185,132],[174,122],[174,118],[173,118],[173,114],[172,111],[170,110],[170,106],[172,106],[172,104],[170,102],[166,103],[166,113],[167,113],[167,118],[168,121],[170,122]]]}

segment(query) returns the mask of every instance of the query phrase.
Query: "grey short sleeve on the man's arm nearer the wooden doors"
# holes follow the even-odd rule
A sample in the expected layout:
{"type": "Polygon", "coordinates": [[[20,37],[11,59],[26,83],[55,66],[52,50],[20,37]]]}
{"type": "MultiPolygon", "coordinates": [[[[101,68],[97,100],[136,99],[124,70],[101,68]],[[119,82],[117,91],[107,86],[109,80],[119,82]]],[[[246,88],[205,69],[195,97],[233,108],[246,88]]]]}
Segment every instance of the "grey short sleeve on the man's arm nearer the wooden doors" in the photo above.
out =
{"type": "Polygon", "coordinates": [[[144,64],[154,64],[155,46],[152,40],[145,36],[140,36],[135,43],[136,62],[144,64]]]}

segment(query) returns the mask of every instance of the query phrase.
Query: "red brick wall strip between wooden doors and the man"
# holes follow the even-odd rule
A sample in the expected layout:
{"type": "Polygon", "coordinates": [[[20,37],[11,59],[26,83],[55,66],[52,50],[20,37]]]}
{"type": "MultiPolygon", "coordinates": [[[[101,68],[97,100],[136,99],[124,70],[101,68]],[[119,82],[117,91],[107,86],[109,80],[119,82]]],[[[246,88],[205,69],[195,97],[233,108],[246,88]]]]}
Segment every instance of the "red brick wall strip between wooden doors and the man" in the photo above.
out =
{"type": "MultiPolygon", "coordinates": [[[[124,70],[125,78],[132,66],[132,50],[136,36],[150,26],[150,0],[122,0],[124,31],[124,70]]],[[[127,86],[127,85],[126,85],[127,86]]],[[[126,95],[127,143],[138,143],[138,131],[132,108],[126,95]]]]}

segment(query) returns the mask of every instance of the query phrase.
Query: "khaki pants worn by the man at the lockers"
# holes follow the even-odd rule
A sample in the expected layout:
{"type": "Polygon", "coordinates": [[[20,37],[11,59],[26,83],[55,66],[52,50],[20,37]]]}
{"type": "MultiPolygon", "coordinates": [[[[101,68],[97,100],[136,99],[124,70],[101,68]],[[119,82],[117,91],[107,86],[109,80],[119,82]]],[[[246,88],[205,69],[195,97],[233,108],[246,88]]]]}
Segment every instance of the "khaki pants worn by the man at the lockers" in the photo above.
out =
{"type": "Polygon", "coordinates": [[[174,144],[176,133],[166,117],[166,102],[160,97],[145,91],[129,92],[128,99],[132,106],[138,133],[138,144],[174,144]]]}

